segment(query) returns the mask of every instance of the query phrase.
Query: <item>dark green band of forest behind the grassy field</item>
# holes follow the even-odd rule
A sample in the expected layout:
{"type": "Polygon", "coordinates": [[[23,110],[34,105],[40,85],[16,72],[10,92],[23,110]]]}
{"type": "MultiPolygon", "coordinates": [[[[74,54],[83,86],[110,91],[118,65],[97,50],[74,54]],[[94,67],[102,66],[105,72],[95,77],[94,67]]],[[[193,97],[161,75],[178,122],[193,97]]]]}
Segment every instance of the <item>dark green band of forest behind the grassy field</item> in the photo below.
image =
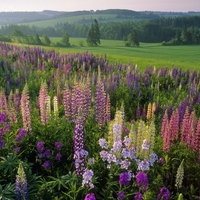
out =
{"type": "MultiPolygon", "coordinates": [[[[62,37],[66,32],[70,37],[87,37],[91,24],[58,23],[55,27],[38,28],[27,25],[6,25],[0,34],[8,36],[14,29],[24,35],[40,37],[62,37]]],[[[140,42],[170,42],[170,44],[200,44],[200,16],[159,18],[143,21],[99,23],[101,39],[127,40],[129,34],[137,33],[140,42]]]]}

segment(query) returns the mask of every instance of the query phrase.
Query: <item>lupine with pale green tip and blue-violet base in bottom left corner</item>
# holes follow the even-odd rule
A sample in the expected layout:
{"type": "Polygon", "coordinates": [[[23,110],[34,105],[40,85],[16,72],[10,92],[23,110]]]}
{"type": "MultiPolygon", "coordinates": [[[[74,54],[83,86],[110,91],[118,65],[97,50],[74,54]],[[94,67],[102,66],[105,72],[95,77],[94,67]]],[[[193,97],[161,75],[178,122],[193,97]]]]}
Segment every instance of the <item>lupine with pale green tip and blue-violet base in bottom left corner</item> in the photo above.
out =
{"type": "Polygon", "coordinates": [[[28,183],[26,180],[26,174],[24,172],[23,166],[20,163],[19,168],[16,175],[16,182],[15,182],[16,188],[16,199],[17,200],[28,200],[28,183]]]}

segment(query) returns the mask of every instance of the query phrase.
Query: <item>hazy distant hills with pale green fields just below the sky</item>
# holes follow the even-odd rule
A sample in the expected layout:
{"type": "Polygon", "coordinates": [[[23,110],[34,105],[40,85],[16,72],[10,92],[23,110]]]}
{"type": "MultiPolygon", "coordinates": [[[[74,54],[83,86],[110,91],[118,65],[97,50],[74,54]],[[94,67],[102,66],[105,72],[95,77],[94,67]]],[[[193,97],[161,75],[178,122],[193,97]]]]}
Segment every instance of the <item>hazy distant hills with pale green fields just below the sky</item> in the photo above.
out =
{"type": "Polygon", "coordinates": [[[152,20],[160,17],[180,17],[200,15],[200,12],[153,12],[125,9],[108,9],[97,11],[60,12],[44,10],[42,12],[0,12],[0,26],[8,24],[28,24],[37,27],[54,27],[57,23],[89,24],[94,19],[99,23],[123,22],[133,20],[152,20]]]}

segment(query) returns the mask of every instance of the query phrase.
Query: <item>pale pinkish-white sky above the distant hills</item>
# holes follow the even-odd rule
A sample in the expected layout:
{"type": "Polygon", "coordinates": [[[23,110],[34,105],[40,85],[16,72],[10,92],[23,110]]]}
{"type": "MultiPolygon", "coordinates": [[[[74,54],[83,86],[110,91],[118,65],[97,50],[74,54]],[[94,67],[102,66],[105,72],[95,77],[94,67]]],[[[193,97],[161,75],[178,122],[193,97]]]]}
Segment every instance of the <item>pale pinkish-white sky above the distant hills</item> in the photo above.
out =
{"type": "Polygon", "coordinates": [[[200,11],[200,0],[0,0],[0,12],[129,9],[135,11],[200,11]]]}

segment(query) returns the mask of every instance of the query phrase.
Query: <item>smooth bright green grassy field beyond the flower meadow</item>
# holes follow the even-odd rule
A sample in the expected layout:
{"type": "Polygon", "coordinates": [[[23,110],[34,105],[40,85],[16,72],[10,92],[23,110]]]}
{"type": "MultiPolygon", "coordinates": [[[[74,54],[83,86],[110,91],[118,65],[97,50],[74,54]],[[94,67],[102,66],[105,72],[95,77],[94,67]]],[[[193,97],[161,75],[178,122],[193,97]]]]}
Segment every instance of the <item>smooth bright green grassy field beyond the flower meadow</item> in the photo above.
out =
{"type": "MultiPolygon", "coordinates": [[[[50,38],[55,43],[60,38],[50,38]]],[[[147,66],[169,67],[172,66],[186,69],[197,69],[200,71],[200,46],[161,46],[159,43],[141,43],[140,47],[125,47],[123,41],[101,40],[101,45],[89,47],[85,38],[70,38],[71,47],[54,48],[60,53],[86,52],[93,55],[107,55],[109,63],[137,64],[138,68],[144,70],[147,66]],[[83,43],[83,46],[80,46],[83,43]]]]}

